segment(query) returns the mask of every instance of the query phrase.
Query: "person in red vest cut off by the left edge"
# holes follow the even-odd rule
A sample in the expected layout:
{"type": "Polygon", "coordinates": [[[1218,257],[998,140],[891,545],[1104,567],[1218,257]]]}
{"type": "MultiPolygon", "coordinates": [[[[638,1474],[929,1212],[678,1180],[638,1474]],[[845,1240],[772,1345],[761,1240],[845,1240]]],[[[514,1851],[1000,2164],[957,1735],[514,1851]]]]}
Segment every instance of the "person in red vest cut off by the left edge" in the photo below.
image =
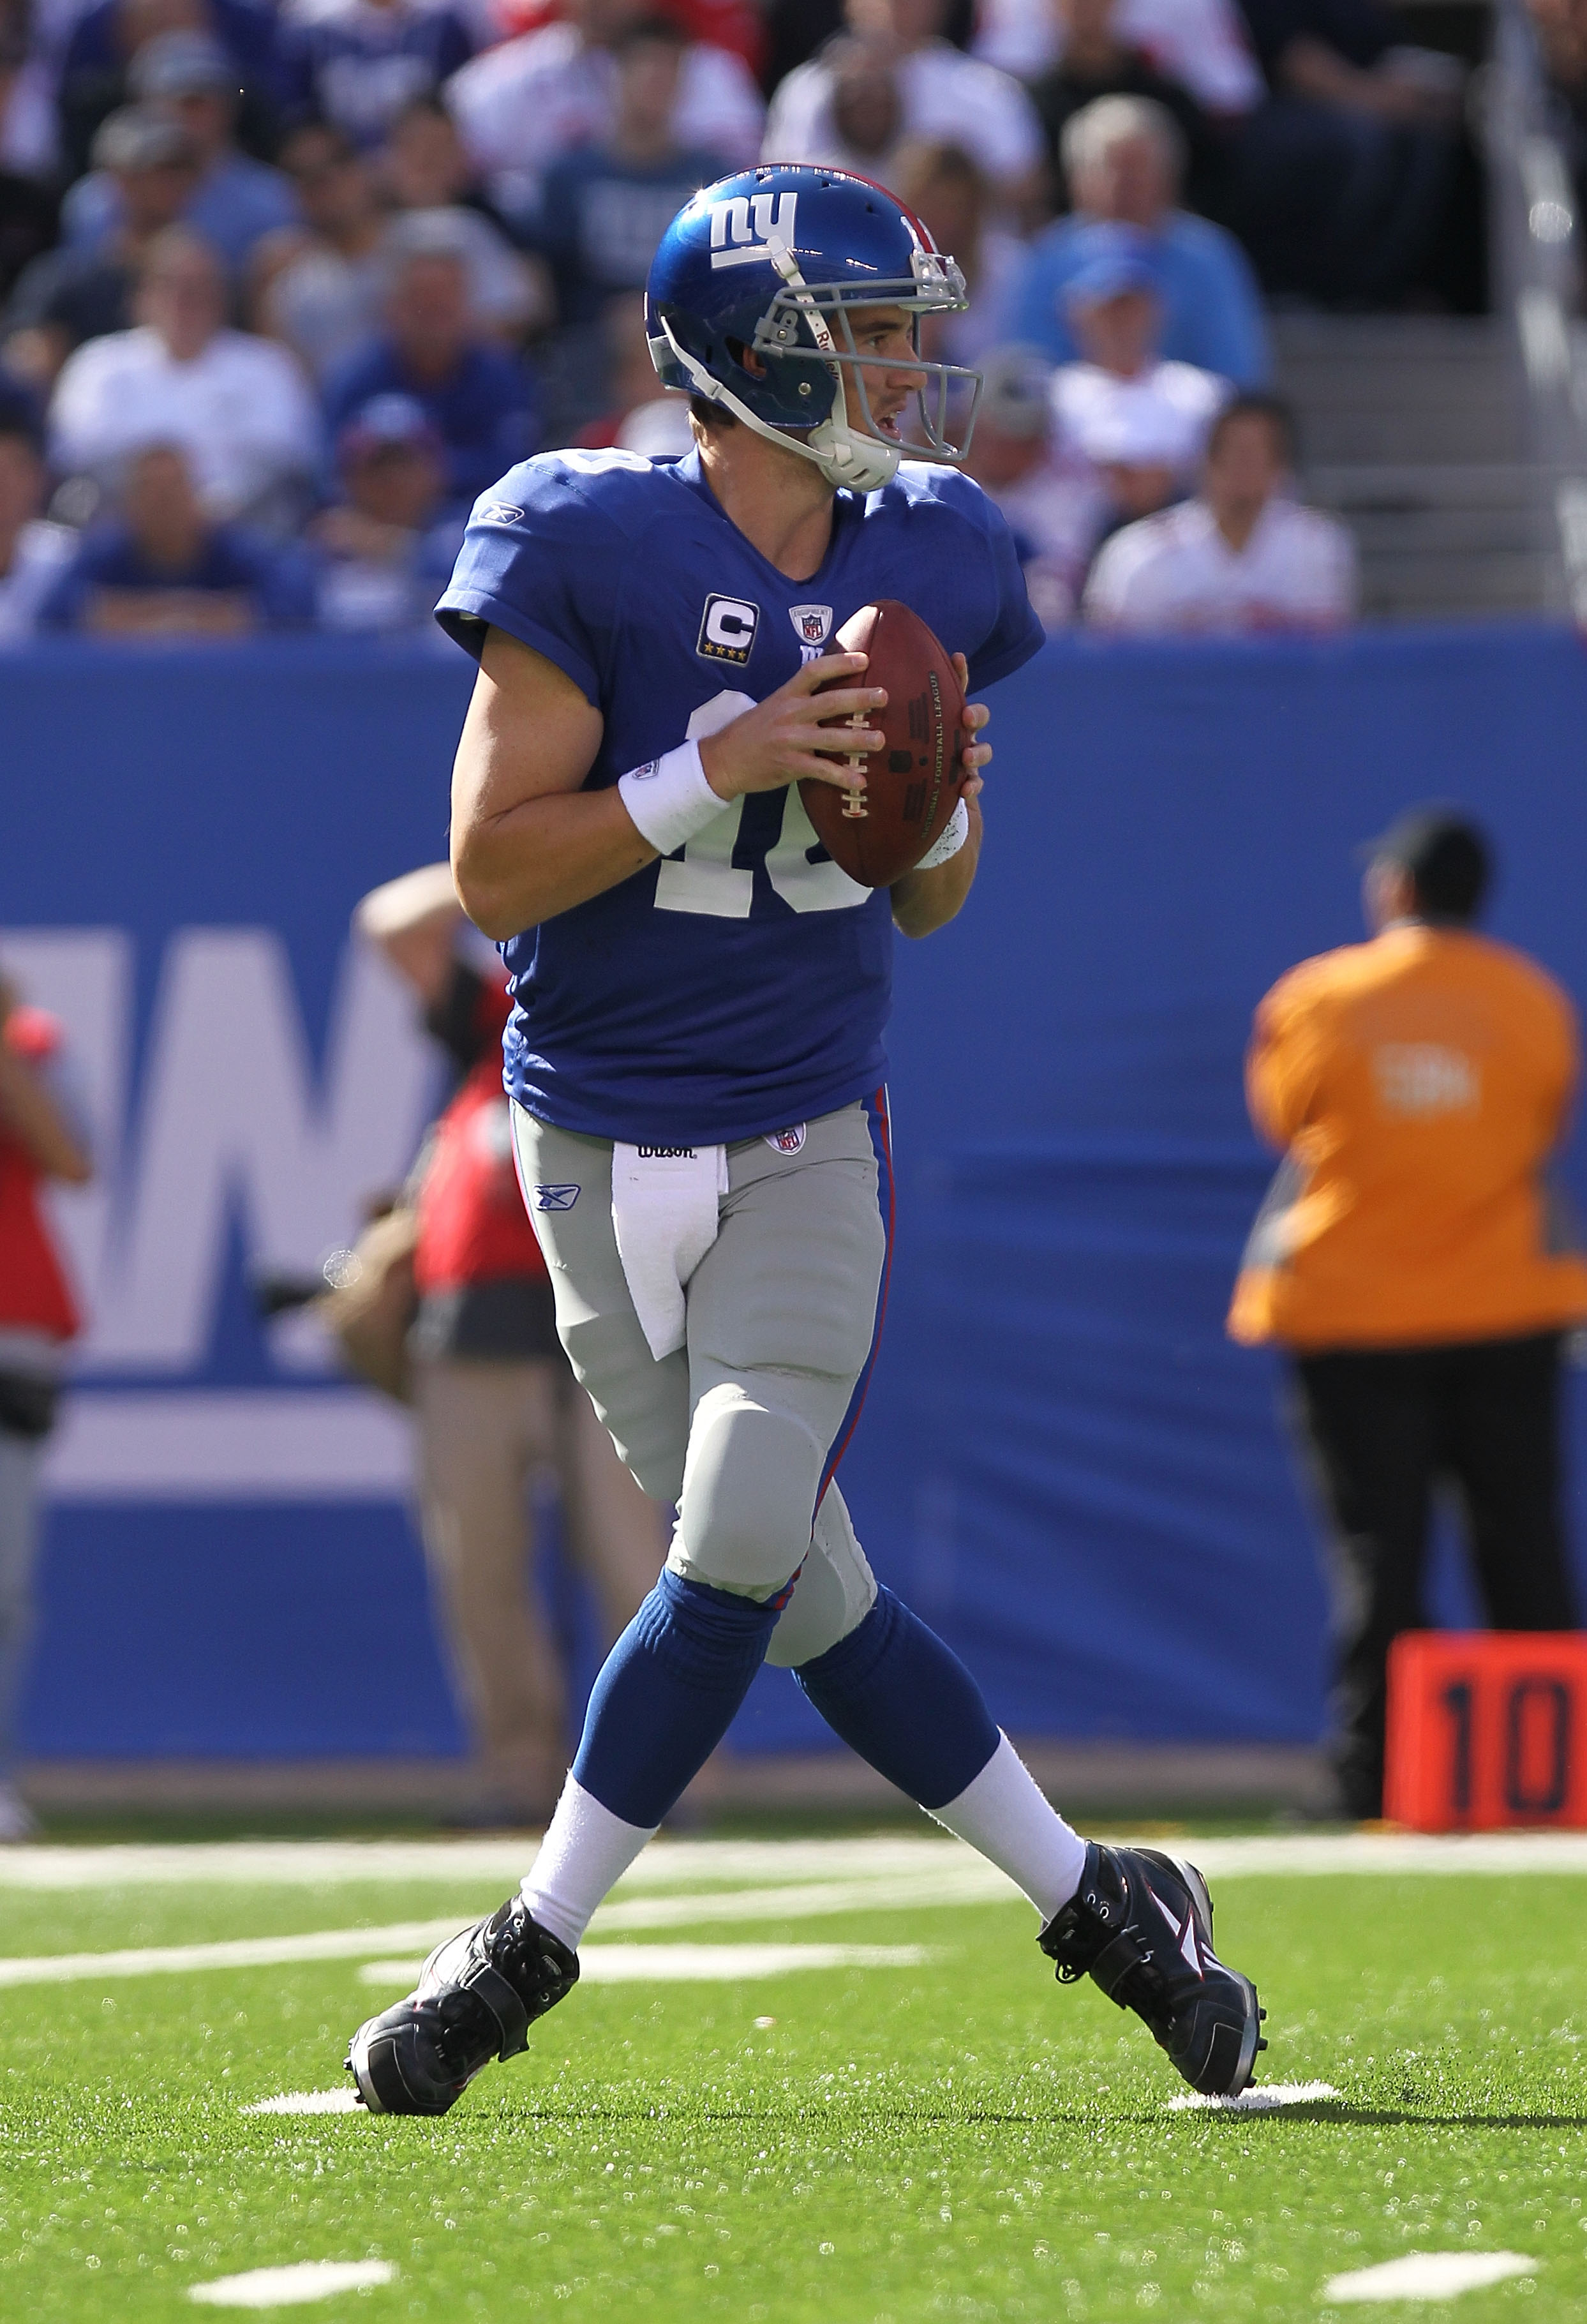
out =
{"type": "Polygon", "coordinates": [[[79,1327],[40,1190],[49,1178],[81,1185],[91,1176],[58,1074],[60,1027],[21,1006],[0,978],[0,1841],[33,1831],[12,1759],[40,1538],[37,1466],[63,1350],[79,1327]]]}

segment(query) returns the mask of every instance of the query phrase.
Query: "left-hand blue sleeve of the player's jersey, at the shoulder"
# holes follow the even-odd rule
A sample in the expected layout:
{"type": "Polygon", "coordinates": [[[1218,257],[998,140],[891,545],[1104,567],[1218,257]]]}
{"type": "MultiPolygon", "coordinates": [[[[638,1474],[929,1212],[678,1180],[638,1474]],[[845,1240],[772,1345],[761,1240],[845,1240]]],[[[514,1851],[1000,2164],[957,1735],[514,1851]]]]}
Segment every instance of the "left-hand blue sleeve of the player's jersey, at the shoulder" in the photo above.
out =
{"type": "MultiPolygon", "coordinates": [[[[625,458],[632,456],[586,456],[593,467],[625,458]]],[[[567,456],[546,456],[509,469],[474,504],[435,618],[474,658],[486,627],[507,630],[602,709],[623,581],[620,528],[581,490],[567,456]]]]}

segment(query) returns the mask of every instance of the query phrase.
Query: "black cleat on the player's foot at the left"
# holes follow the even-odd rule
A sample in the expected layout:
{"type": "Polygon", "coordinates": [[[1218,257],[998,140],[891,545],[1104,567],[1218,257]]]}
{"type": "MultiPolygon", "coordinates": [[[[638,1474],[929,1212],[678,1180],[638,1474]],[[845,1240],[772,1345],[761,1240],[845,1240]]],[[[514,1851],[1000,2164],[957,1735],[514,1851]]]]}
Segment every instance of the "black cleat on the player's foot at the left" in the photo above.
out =
{"type": "Polygon", "coordinates": [[[579,1954],[509,1896],[448,1936],[407,2001],[358,2027],[346,2071],[372,2115],[444,2115],[493,2057],[527,2050],[530,2027],[579,1982],[579,1954]]]}

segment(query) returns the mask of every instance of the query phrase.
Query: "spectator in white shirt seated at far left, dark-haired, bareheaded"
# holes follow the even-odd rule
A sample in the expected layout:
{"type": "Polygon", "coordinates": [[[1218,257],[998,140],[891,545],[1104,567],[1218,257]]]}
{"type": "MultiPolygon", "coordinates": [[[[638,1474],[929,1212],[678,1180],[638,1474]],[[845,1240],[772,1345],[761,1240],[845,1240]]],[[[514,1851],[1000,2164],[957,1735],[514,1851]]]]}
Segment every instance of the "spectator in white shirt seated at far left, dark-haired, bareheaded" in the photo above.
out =
{"type": "Polygon", "coordinates": [[[144,444],[188,456],[204,511],[288,530],[321,456],[321,421],[283,346],[225,328],[225,272],[191,228],[149,244],[135,330],[67,360],[49,407],[51,460],[109,486],[144,444]]]}

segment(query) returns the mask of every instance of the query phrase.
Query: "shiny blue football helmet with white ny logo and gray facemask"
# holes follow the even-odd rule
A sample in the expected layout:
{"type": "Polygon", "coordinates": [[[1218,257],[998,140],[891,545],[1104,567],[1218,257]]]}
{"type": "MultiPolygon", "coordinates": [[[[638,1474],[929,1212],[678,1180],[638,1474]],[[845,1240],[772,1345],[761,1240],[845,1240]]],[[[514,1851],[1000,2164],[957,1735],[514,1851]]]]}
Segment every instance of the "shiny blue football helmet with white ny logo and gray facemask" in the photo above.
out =
{"type": "Polygon", "coordinates": [[[646,284],[651,360],[667,388],[723,404],[755,435],[804,453],[830,483],[874,493],[899,460],[960,465],[969,451],[981,374],[955,363],[918,370],[920,442],[883,437],[850,314],[904,307],[915,316],[969,304],[964,274],[920,218],[846,170],[764,165],[704,186],[660,239],[646,284]],[[746,353],[757,367],[746,367],[746,353]],[[950,402],[964,402],[960,444],[950,402]]]}

